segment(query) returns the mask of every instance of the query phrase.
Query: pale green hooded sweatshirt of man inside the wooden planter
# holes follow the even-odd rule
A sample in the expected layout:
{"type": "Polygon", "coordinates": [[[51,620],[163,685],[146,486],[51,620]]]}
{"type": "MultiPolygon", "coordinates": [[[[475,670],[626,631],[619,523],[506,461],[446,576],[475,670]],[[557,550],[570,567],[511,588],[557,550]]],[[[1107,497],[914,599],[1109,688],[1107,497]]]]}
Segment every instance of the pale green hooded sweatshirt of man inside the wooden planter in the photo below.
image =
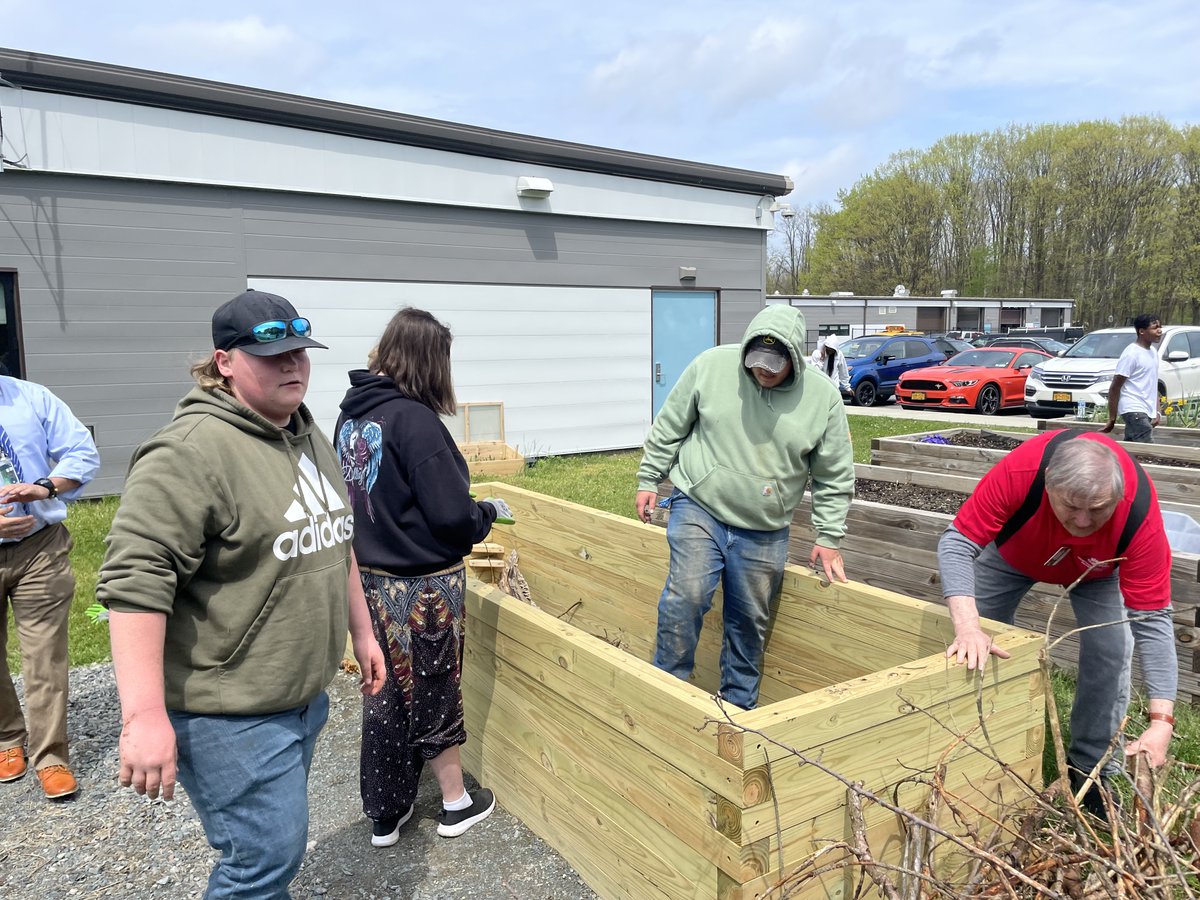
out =
{"type": "Polygon", "coordinates": [[[646,438],[640,491],[664,478],[719,522],[766,532],[791,524],[812,479],[816,542],[836,548],[854,496],[850,425],[838,388],[804,360],[804,317],[768,306],[740,344],[700,354],[672,388],[646,438]],[[743,365],[746,346],[770,335],[792,358],[792,374],[762,388],[743,365]]]}

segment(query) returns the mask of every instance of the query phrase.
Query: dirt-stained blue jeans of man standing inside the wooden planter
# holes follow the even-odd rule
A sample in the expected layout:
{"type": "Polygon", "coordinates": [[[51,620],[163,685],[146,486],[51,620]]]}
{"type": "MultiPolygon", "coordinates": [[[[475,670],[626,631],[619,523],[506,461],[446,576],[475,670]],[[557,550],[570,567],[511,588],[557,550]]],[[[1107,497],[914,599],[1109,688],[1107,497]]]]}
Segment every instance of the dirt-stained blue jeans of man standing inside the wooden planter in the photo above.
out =
{"type": "Polygon", "coordinates": [[[676,678],[691,674],[704,613],[721,582],[721,696],[751,709],[758,701],[770,601],[779,594],[787,564],[787,528],[754,532],[724,524],[679,491],[670,503],[671,568],[659,598],[654,665],[676,678]]]}

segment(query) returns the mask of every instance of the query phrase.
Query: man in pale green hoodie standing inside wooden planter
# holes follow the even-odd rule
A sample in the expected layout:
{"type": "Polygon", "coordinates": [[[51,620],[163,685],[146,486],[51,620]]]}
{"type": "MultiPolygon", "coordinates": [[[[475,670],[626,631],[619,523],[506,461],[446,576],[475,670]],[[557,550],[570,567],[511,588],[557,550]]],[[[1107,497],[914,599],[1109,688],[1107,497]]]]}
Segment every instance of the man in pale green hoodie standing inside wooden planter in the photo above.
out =
{"type": "Polygon", "coordinates": [[[758,701],[770,601],[787,563],[788,526],[812,482],[810,564],[846,581],[838,547],[854,496],[854,457],[836,385],[808,366],[804,317],[768,306],[740,344],[700,354],[672,388],[646,438],[637,514],[650,521],[670,478],[671,563],[659,599],[654,665],[686,679],[704,614],[724,584],[721,697],[758,701]]]}

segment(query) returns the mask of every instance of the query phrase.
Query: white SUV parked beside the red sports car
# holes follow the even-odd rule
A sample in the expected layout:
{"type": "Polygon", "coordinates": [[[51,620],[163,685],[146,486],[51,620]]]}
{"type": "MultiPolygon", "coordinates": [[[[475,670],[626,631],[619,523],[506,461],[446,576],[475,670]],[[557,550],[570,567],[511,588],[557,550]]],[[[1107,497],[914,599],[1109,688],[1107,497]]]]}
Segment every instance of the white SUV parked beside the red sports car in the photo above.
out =
{"type": "MultiPolygon", "coordinates": [[[[1025,382],[1025,408],[1037,419],[1074,413],[1080,403],[1108,407],[1121,350],[1136,338],[1132,328],[1084,335],[1061,356],[1034,366],[1025,382]]],[[[1158,344],[1158,396],[1200,397],[1200,325],[1168,325],[1158,344]]]]}

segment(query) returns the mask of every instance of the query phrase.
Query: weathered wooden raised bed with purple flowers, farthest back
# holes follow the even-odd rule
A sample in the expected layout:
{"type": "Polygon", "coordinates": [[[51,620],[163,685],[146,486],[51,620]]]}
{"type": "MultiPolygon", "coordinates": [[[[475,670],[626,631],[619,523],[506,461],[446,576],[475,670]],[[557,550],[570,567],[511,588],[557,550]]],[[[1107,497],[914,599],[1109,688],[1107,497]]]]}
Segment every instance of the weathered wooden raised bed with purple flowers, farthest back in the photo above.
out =
{"type": "MultiPolygon", "coordinates": [[[[978,428],[950,428],[948,431],[928,431],[917,434],[898,434],[887,438],[871,439],[871,462],[876,466],[934,472],[938,474],[968,475],[982,478],[992,466],[1003,458],[1007,450],[991,450],[979,446],[954,446],[953,444],[930,444],[922,438],[940,434],[950,437],[959,432],[978,432],[978,428]]],[[[1028,440],[1036,433],[994,432],[1006,438],[1028,440]]],[[[1141,458],[1157,456],[1165,460],[1180,460],[1188,463],[1200,463],[1200,448],[1168,446],[1165,444],[1130,444],[1122,442],[1122,449],[1130,456],[1141,458]]],[[[1142,463],[1146,474],[1154,482],[1158,499],[1163,509],[1177,509],[1189,512],[1187,508],[1200,508],[1200,468],[1182,468],[1142,463]]]]}

